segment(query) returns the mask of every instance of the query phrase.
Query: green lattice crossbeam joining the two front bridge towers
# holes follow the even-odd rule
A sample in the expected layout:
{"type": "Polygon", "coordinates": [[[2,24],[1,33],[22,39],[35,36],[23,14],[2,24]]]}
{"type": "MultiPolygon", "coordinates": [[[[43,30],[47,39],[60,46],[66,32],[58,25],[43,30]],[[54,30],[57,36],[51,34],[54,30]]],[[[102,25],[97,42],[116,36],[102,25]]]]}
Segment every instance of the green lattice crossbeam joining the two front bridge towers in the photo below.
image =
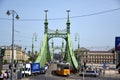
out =
{"type": "Polygon", "coordinates": [[[67,38],[67,30],[48,30],[48,40],[51,39],[51,38],[54,38],[54,37],[60,37],[60,38],[64,38],[66,39],[67,38]]]}

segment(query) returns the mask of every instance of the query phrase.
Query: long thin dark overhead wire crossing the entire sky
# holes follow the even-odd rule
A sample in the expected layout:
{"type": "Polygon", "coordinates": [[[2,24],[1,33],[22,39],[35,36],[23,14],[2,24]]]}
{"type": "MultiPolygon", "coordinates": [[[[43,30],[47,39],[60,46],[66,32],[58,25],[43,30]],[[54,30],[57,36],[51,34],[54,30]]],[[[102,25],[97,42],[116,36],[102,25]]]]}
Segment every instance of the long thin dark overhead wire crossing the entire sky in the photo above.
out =
{"type": "MultiPolygon", "coordinates": [[[[85,14],[85,15],[81,15],[81,16],[71,16],[70,18],[87,17],[87,16],[93,16],[93,15],[99,15],[99,14],[114,12],[114,11],[118,11],[118,10],[120,10],[120,8],[110,9],[110,10],[91,13],[91,14],[85,14]]],[[[51,18],[51,19],[48,19],[48,20],[64,20],[64,19],[66,19],[66,17],[64,17],[64,18],[51,18]]],[[[0,18],[0,20],[11,20],[11,19],[0,18]]],[[[19,21],[44,21],[44,19],[20,19],[19,21]]]]}

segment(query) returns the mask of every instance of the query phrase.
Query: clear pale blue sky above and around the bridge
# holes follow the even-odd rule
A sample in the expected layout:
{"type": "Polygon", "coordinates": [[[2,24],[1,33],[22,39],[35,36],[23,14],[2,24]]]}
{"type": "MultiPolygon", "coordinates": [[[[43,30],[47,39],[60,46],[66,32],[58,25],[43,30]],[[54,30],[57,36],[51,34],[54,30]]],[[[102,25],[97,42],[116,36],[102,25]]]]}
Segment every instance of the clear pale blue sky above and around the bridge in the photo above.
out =
{"type": "MultiPolygon", "coordinates": [[[[48,28],[66,29],[66,10],[70,10],[70,33],[73,49],[109,50],[115,46],[115,37],[120,36],[120,0],[0,0],[0,46],[12,43],[12,15],[15,10],[20,19],[15,20],[14,43],[31,50],[32,38],[35,50],[39,51],[44,36],[44,10],[48,10],[48,28]]],[[[55,38],[60,46],[61,38],[55,38]]],[[[50,41],[51,43],[51,41],[50,41]]]]}

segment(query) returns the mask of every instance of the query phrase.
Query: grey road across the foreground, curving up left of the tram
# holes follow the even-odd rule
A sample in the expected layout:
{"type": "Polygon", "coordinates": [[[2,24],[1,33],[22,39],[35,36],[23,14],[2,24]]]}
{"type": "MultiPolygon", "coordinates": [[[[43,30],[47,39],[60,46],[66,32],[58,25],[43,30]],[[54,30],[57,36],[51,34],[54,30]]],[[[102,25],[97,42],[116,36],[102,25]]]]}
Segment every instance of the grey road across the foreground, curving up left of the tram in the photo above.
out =
{"type": "Polygon", "coordinates": [[[115,70],[106,70],[105,75],[101,74],[99,77],[86,77],[83,79],[78,74],[71,74],[69,77],[52,75],[51,71],[56,69],[56,65],[52,64],[46,74],[31,76],[23,78],[22,80],[120,80],[120,74],[115,70]]]}

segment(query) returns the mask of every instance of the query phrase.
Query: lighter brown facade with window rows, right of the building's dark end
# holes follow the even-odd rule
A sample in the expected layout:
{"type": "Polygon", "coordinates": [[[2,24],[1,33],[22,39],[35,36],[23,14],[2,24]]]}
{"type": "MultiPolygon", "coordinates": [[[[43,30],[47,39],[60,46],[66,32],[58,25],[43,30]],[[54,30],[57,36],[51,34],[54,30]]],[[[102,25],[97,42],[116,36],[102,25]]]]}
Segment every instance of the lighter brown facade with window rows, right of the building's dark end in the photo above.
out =
{"type": "Polygon", "coordinates": [[[103,64],[115,64],[116,57],[115,53],[111,51],[89,51],[87,63],[103,64]]]}

